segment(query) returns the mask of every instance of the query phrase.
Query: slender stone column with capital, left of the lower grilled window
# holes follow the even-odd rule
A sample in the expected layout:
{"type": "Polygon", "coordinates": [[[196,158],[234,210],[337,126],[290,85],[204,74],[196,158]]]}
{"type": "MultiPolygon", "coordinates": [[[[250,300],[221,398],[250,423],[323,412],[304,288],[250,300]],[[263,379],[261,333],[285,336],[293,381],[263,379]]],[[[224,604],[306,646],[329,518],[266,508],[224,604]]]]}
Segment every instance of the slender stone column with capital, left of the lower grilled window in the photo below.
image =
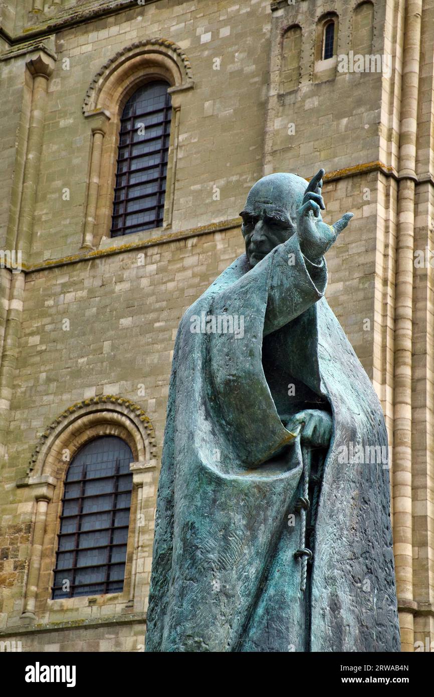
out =
{"type": "Polygon", "coordinates": [[[36,501],[29,571],[26,582],[26,595],[24,596],[24,606],[21,615],[21,619],[25,622],[33,622],[36,620],[36,595],[38,593],[40,563],[42,560],[45,524],[47,521],[47,508],[53,497],[56,480],[49,475],[41,475],[39,477],[30,477],[29,480],[24,482],[18,482],[18,486],[32,487],[33,498],[36,501]]]}

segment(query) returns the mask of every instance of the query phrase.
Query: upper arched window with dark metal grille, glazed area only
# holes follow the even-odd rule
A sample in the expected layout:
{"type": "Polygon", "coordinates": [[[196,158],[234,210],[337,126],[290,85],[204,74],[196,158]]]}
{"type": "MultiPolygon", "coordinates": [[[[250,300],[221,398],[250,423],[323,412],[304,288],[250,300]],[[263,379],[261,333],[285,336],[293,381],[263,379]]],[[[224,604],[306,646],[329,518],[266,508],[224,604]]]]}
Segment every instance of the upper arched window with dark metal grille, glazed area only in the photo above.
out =
{"type": "Polygon", "coordinates": [[[147,82],[121,118],[111,237],[163,224],[171,98],[167,82],[147,82]]]}

